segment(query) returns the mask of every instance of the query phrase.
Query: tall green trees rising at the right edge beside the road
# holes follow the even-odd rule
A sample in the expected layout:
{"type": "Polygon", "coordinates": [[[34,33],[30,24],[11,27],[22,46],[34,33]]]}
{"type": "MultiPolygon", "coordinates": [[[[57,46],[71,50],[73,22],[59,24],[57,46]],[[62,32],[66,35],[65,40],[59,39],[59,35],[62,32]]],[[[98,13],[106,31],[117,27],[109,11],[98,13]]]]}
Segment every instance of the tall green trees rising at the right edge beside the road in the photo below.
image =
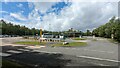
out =
{"type": "Polygon", "coordinates": [[[120,42],[120,18],[112,17],[108,23],[94,29],[92,34],[97,37],[113,37],[113,39],[120,42]]]}

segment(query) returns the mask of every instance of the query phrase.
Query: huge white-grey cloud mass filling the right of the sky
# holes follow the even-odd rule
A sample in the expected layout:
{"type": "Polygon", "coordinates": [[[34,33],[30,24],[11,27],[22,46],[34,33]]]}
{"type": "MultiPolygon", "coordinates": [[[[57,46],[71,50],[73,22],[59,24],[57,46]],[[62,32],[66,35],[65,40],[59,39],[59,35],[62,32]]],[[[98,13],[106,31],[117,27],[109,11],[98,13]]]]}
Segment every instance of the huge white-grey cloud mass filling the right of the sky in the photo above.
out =
{"type": "MultiPolygon", "coordinates": [[[[69,28],[82,31],[92,30],[107,23],[112,16],[117,16],[117,8],[117,3],[73,2],[71,6],[62,8],[60,15],[50,13],[43,17],[43,21],[36,20],[36,25],[33,27],[41,26],[43,29],[52,31],[68,30],[69,28]]],[[[37,12],[33,14],[36,19],[39,19],[37,12]]]]}

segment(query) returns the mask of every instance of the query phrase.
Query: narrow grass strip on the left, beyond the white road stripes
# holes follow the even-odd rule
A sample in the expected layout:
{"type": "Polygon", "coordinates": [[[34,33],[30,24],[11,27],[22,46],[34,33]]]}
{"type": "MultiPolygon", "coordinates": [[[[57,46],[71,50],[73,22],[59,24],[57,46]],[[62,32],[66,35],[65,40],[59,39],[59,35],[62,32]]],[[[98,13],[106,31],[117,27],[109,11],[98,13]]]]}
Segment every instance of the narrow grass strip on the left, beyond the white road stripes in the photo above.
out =
{"type": "Polygon", "coordinates": [[[23,44],[23,45],[45,45],[45,42],[38,42],[38,41],[20,41],[15,42],[15,44],[23,44]]]}

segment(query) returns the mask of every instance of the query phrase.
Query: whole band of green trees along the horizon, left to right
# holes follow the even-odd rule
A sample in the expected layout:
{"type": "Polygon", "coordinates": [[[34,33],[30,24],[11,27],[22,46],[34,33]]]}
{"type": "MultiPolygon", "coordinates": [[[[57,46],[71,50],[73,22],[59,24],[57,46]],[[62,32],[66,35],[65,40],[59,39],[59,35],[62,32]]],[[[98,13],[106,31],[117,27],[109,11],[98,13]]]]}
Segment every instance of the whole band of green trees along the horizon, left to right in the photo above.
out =
{"type": "MultiPolygon", "coordinates": [[[[20,25],[13,25],[12,23],[7,23],[4,20],[0,20],[0,29],[2,32],[2,35],[19,35],[19,36],[25,36],[25,35],[36,35],[40,34],[39,29],[35,28],[27,28],[25,26],[20,25]]],[[[44,30],[43,33],[52,33],[52,34],[64,34],[68,35],[70,31],[61,31],[61,32],[52,32],[44,30]]],[[[87,30],[86,32],[79,31],[79,34],[82,36],[92,36],[95,35],[96,37],[105,37],[105,38],[111,38],[113,36],[113,39],[120,41],[120,18],[116,18],[115,16],[112,17],[108,23],[101,25],[100,27],[94,29],[92,32],[90,30],[87,30]]]]}

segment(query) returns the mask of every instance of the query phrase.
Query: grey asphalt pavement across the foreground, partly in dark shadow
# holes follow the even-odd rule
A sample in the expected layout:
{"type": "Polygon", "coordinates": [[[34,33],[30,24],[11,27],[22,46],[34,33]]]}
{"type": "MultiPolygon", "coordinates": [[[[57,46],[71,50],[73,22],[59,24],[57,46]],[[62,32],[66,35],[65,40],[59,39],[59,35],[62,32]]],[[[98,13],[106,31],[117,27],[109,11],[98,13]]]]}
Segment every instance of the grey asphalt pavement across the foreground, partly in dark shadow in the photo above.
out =
{"type": "MultiPolygon", "coordinates": [[[[21,38],[6,38],[0,46],[0,56],[3,59],[16,61],[32,67],[43,66],[110,66],[118,68],[118,44],[99,38],[97,41],[89,39],[83,47],[50,47],[13,45],[11,41],[21,38]],[[8,40],[9,39],[9,40],[8,40]],[[12,39],[12,40],[10,40],[12,39]],[[9,41],[9,43],[6,43],[9,41]],[[9,44],[9,45],[8,45],[9,44]]],[[[70,40],[71,41],[71,40],[70,40]]],[[[82,67],[83,68],[83,67],[82,67]]],[[[93,67],[92,67],[93,68],[93,67]]],[[[103,68],[103,67],[102,67],[103,68]]],[[[106,68],[106,67],[105,67],[106,68]]]]}

